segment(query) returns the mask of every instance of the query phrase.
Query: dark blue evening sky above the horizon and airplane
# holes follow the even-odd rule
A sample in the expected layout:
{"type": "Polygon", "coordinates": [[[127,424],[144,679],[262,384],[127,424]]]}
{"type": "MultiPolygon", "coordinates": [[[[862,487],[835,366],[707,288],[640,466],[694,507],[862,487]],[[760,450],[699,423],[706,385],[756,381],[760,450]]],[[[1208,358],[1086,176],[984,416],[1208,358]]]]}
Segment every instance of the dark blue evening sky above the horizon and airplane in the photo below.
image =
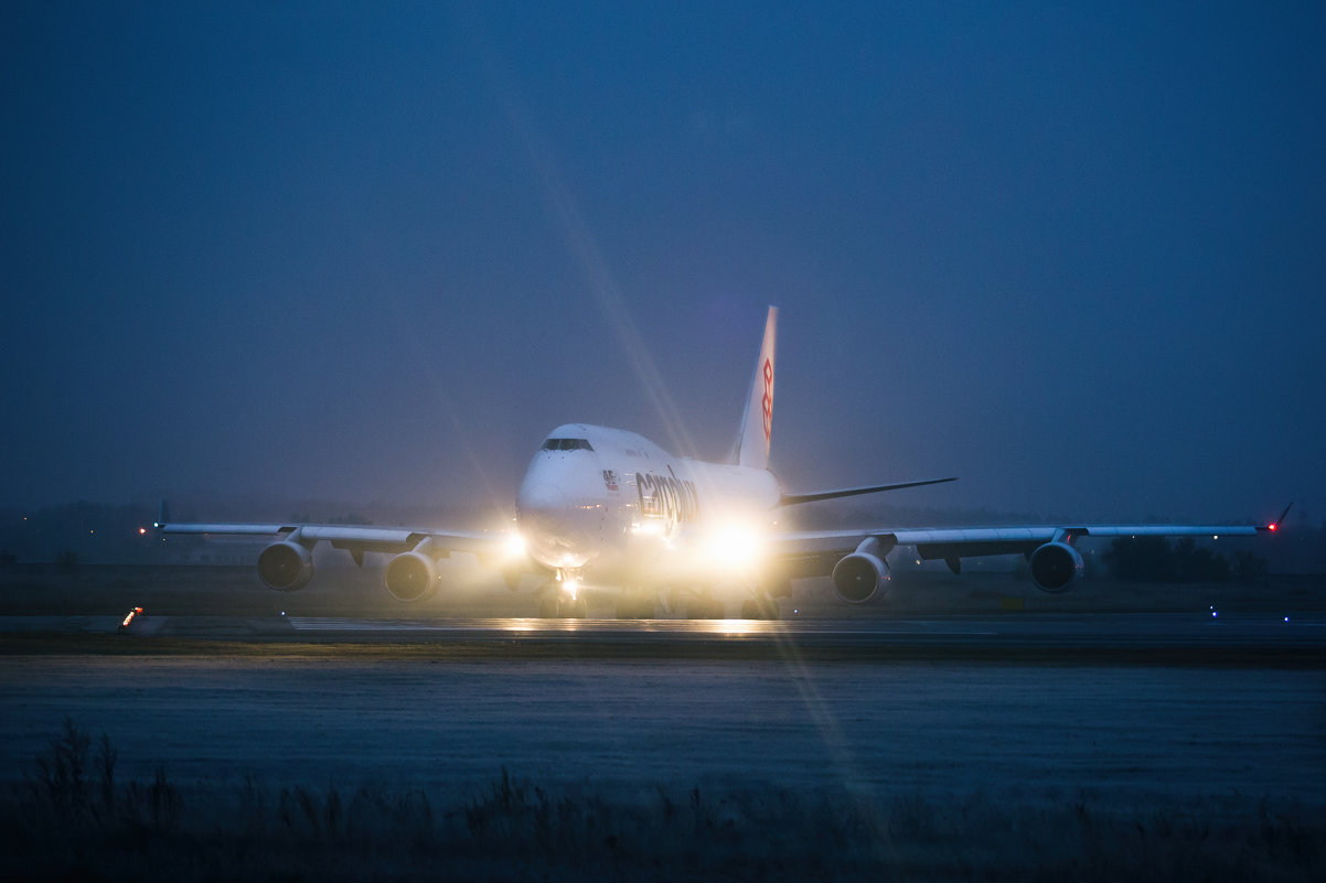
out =
{"type": "Polygon", "coordinates": [[[721,457],[777,304],[790,489],[1326,509],[1326,8],[765,7],[5,4],[0,504],[721,457]]]}

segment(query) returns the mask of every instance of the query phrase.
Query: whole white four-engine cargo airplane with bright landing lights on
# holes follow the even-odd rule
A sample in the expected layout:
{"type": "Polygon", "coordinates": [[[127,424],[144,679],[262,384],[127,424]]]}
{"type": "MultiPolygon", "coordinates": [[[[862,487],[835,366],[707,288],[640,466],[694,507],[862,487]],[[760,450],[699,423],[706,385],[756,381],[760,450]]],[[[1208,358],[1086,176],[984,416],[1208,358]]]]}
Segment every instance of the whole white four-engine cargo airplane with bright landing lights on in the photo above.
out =
{"type": "MultiPolygon", "coordinates": [[[[769,471],[773,432],[777,308],[769,308],[741,431],[731,463],[675,457],[648,439],[599,426],[568,423],[553,430],[525,472],[516,497],[516,530],[507,536],[412,528],[321,524],[171,524],[163,533],[268,534],[257,559],[261,581],[278,591],[313,579],[313,548],[329,542],[355,563],[366,552],[392,556],[383,582],[400,601],[428,598],[440,585],[438,559],[473,553],[496,565],[508,585],[541,573],[540,614],[583,617],[585,579],[621,590],[618,615],[654,615],[663,589],[684,599],[691,617],[723,615],[717,586],[743,586],[744,618],[777,615],[790,581],[830,577],[843,601],[862,603],[888,581],[888,554],[914,546],[953,573],[971,556],[1025,556],[1042,591],[1066,591],[1082,575],[1081,537],[1253,536],[1266,525],[1087,525],[1006,528],[862,528],[781,532],[778,510],[815,500],[937,484],[906,481],[786,493],[769,471]]],[[[1284,518],[1284,516],[1281,516],[1284,518]]]]}

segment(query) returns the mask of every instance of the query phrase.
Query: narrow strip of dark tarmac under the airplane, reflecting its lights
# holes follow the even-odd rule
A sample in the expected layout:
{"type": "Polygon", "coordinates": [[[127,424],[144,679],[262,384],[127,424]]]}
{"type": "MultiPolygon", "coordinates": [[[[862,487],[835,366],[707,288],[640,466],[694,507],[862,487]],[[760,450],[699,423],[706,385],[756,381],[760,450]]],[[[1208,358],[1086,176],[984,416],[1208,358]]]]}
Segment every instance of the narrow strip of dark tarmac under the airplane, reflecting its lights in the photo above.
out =
{"type": "MultiPolygon", "coordinates": [[[[330,617],[0,617],[37,651],[191,652],[206,642],[353,644],[471,658],[989,659],[1326,667],[1326,614],[987,614],[859,619],[349,619],[330,617]],[[105,639],[117,640],[107,644],[105,639]],[[82,639],[82,640],[80,640],[82,639]]],[[[236,650],[236,652],[239,652],[236,650]]]]}

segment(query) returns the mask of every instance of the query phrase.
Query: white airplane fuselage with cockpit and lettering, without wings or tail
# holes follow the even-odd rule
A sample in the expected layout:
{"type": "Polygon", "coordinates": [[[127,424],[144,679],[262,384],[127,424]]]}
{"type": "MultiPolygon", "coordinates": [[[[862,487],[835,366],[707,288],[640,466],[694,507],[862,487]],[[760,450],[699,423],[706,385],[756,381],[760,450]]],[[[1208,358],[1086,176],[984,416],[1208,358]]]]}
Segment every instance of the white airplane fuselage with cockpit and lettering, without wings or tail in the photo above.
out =
{"type": "Polygon", "coordinates": [[[778,500],[768,469],[674,457],[634,432],[570,423],[534,453],[516,517],[538,563],[634,583],[739,563],[716,550],[753,541],[778,500]]]}

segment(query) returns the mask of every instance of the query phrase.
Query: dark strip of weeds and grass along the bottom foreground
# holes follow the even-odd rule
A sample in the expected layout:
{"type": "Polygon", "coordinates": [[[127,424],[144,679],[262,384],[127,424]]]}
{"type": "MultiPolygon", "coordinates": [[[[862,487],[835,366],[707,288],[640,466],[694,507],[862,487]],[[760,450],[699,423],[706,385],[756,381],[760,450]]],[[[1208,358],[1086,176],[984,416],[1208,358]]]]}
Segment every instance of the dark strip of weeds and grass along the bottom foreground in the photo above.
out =
{"type": "Polygon", "coordinates": [[[115,777],[73,721],[0,794],[0,879],[1321,880],[1322,807],[1105,811],[919,793],[655,789],[609,798],[501,770],[479,792],[182,789],[115,777]],[[1219,819],[1219,821],[1215,821],[1219,819]]]}

